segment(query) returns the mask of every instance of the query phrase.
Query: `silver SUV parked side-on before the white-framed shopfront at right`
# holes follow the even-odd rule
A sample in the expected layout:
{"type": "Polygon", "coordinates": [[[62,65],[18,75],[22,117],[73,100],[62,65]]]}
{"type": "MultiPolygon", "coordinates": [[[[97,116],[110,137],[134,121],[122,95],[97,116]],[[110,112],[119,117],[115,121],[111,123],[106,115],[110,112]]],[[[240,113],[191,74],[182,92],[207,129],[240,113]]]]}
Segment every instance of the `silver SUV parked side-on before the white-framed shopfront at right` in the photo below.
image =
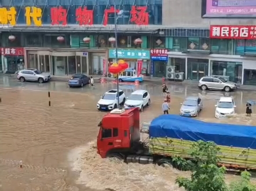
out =
{"type": "Polygon", "coordinates": [[[198,87],[202,90],[206,89],[219,89],[225,92],[230,92],[237,88],[237,84],[228,81],[223,77],[204,76],[199,80],[198,87]]]}

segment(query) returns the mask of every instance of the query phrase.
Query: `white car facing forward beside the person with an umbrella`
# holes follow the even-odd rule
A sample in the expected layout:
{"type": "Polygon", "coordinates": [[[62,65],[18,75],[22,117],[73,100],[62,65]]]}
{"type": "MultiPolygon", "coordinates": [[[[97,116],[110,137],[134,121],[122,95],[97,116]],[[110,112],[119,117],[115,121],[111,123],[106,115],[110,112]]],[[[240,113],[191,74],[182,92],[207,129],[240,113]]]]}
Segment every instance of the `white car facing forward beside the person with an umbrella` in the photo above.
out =
{"type": "Polygon", "coordinates": [[[215,118],[235,114],[235,102],[232,97],[221,97],[215,105],[215,118]]]}

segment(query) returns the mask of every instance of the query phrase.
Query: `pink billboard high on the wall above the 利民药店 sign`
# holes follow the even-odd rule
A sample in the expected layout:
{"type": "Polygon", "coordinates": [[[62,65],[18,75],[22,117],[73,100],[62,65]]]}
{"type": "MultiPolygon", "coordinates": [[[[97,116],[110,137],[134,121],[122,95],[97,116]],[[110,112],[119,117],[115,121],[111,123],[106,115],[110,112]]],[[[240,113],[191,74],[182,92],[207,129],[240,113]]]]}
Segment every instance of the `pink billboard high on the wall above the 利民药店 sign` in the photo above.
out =
{"type": "Polygon", "coordinates": [[[256,0],[206,0],[203,17],[256,17],[256,0]]]}

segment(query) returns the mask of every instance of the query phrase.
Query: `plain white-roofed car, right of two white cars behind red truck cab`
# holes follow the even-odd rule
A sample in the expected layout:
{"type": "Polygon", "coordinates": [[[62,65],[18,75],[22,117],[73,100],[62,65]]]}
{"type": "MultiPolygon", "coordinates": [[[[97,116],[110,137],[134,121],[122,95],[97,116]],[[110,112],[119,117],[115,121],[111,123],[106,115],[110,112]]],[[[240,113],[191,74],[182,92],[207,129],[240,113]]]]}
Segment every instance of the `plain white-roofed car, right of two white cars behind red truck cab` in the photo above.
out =
{"type": "Polygon", "coordinates": [[[125,109],[137,107],[143,111],[145,106],[150,105],[150,95],[147,90],[136,90],[126,99],[125,109]]]}

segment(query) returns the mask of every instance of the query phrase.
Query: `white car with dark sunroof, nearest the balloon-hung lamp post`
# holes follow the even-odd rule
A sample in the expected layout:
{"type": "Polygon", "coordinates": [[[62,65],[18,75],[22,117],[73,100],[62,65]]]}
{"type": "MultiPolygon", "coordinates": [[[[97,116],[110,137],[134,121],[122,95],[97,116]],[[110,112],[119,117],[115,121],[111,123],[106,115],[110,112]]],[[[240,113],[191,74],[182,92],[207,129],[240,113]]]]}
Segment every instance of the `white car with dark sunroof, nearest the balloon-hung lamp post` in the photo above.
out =
{"type": "Polygon", "coordinates": [[[98,110],[113,110],[118,107],[118,93],[119,93],[119,104],[122,105],[125,103],[126,96],[125,92],[122,89],[119,89],[119,92],[116,89],[111,89],[104,93],[101,96],[101,99],[98,100],[97,109],[98,110]]]}

